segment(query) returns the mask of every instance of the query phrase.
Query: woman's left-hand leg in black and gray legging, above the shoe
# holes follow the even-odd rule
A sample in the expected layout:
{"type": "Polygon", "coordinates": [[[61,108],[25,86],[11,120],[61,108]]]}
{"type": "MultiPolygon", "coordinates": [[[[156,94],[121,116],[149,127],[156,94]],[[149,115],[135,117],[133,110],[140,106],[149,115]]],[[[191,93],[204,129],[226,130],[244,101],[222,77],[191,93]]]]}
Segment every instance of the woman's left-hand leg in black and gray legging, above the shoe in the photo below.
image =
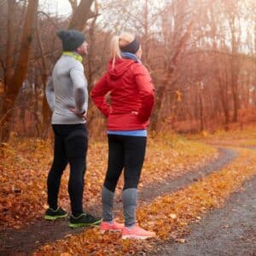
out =
{"type": "Polygon", "coordinates": [[[108,135],[108,170],[102,188],[103,221],[113,220],[113,195],[124,167],[124,147],[119,136],[108,135]]]}

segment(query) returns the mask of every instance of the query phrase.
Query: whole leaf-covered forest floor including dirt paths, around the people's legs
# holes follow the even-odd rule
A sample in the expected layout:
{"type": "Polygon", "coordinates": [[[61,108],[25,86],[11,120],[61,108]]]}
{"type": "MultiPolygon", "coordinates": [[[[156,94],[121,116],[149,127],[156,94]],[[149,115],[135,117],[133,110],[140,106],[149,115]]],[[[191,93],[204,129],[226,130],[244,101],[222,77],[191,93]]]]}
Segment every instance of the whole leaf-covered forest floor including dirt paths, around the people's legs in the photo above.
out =
{"type": "MultiPolygon", "coordinates": [[[[137,209],[138,223],[157,234],[148,241],[44,220],[51,142],[14,139],[0,162],[0,255],[256,255],[254,135],[149,138],[137,209]]],[[[106,155],[106,142],[90,143],[84,202],[97,215],[106,155]]],[[[60,201],[69,210],[67,179],[60,201]]],[[[120,221],[122,184],[115,198],[120,221]]]]}

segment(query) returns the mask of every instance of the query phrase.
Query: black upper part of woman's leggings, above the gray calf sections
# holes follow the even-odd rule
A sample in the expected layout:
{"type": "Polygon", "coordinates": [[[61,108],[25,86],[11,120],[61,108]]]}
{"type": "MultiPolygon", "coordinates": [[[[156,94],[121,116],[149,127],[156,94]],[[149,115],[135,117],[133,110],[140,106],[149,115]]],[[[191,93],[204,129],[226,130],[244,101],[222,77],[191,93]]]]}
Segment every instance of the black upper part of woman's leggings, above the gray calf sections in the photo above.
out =
{"type": "Polygon", "coordinates": [[[104,186],[115,190],[125,168],[125,189],[137,189],[145,157],[147,137],[108,135],[108,171],[104,186]]]}

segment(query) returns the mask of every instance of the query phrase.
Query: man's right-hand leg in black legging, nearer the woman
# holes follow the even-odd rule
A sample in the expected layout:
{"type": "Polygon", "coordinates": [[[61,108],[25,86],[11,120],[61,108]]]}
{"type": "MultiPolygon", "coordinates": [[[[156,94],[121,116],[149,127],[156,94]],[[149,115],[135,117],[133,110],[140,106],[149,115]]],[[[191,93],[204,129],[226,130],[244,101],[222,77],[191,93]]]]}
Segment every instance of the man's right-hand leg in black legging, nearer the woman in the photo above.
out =
{"type": "Polygon", "coordinates": [[[84,125],[74,129],[65,141],[67,158],[70,164],[68,193],[73,216],[83,213],[84,173],[87,153],[87,131],[84,125]]]}

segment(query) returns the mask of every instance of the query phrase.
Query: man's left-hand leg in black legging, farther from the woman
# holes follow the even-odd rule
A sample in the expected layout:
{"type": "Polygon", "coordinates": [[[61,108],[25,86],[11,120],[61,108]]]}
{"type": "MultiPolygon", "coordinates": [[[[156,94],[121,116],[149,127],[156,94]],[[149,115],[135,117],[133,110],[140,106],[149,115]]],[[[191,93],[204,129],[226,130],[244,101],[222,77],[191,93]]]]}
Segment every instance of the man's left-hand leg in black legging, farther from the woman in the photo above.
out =
{"type": "Polygon", "coordinates": [[[64,139],[55,131],[54,160],[47,178],[48,204],[52,209],[58,207],[58,194],[61,184],[61,176],[67,166],[67,155],[64,146],[64,139]]]}

